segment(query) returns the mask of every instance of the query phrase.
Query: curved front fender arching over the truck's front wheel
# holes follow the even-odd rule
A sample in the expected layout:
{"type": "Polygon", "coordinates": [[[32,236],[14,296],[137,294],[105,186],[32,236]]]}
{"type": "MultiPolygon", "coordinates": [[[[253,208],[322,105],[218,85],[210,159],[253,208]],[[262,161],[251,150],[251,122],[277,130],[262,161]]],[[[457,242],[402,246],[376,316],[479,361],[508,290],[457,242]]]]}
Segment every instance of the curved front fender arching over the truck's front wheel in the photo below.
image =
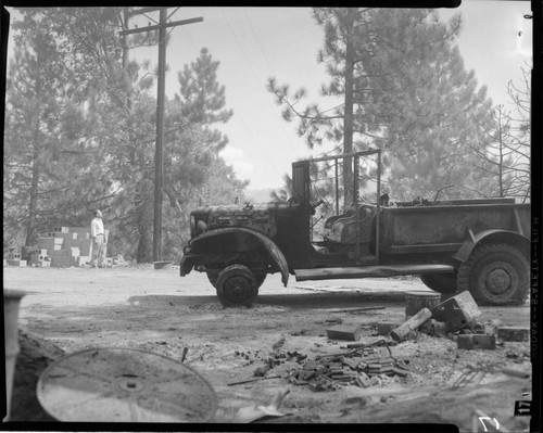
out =
{"type": "Polygon", "coordinates": [[[227,239],[228,237],[232,235],[236,238],[237,243],[239,245],[242,245],[243,247],[249,249],[254,245],[262,246],[269,254],[269,257],[272,257],[274,264],[279,268],[279,271],[281,272],[281,281],[285,286],[287,286],[287,283],[289,282],[289,265],[287,264],[285,255],[274,241],[256,230],[251,230],[243,227],[226,227],[222,229],[210,230],[194,238],[190,242],[190,250],[192,253],[202,254],[205,252],[207,242],[211,239],[227,239]]]}

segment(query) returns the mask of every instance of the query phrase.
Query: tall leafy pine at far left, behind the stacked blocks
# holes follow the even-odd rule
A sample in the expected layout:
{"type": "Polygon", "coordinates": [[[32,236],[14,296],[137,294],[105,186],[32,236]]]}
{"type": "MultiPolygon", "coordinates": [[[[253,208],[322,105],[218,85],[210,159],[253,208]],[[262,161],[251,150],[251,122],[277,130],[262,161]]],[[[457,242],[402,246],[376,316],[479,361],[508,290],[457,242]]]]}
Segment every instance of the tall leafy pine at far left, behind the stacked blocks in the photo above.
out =
{"type": "MultiPolygon", "coordinates": [[[[7,92],[4,170],[7,201],[17,215],[25,215],[24,243],[31,245],[38,230],[61,218],[77,218],[77,208],[87,195],[72,192],[99,165],[83,139],[81,92],[74,90],[81,76],[66,66],[54,35],[34,16],[26,15],[18,28],[21,43],[9,71],[7,92]]],[[[97,187],[101,192],[106,188],[92,186],[97,187]]]]}

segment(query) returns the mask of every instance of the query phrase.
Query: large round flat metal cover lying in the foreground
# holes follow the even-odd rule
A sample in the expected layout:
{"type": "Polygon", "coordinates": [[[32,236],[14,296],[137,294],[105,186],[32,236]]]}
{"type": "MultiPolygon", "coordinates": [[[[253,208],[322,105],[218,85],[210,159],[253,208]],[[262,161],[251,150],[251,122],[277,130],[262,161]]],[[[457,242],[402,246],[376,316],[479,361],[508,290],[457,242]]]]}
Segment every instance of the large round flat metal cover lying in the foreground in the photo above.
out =
{"type": "Polygon", "coordinates": [[[206,422],[217,410],[210,383],[190,367],[131,348],[92,348],[49,366],[37,386],[59,421],[206,422]]]}

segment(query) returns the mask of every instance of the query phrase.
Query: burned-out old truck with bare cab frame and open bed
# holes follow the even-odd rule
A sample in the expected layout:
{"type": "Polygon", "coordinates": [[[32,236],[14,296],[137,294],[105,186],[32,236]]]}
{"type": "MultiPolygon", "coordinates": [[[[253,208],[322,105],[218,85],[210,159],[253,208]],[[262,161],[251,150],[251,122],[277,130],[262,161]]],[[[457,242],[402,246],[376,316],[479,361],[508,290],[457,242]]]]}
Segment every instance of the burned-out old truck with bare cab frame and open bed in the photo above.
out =
{"type": "Polygon", "coordinates": [[[190,230],[180,275],[205,272],[225,306],[251,305],[275,272],[285,286],[291,275],[412,275],[440,293],[469,291],[480,304],[528,296],[529,204],[439,193],[392,204],[381,191],[380,150],[295,162],[287,202],[200,207],[190,230]]]}

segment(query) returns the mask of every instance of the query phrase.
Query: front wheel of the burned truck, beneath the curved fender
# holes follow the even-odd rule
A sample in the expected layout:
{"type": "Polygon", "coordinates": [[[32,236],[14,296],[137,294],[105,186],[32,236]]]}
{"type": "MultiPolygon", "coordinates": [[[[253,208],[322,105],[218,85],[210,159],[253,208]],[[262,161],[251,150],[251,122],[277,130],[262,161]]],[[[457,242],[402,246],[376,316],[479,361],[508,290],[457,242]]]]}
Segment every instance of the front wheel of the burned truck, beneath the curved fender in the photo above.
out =
{"type": "Polygon", "coordinates": [[[215,282],[217,296],[225,307],[250,307],[258,295],[258,282],[243,265],[231,265],[223,269],[215,282]]]}

